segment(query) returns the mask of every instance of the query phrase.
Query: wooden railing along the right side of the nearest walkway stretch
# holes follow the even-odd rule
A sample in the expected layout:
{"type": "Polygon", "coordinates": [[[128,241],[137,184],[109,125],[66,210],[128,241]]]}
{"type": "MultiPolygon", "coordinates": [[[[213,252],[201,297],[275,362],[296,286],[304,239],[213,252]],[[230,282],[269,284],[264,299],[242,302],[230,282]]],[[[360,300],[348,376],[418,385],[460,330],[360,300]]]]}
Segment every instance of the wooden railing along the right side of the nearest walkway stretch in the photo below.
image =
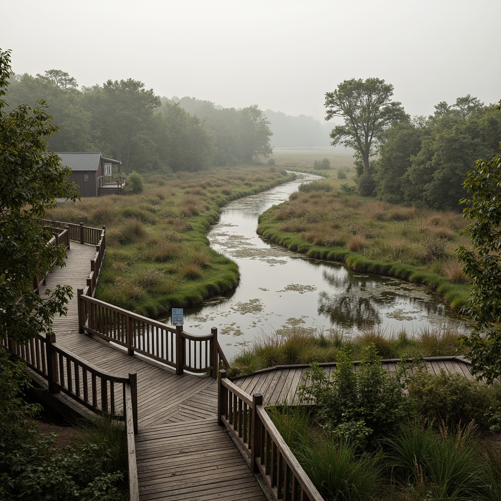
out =
{"type": "Polygon", "coordinates": [[[251,397],[221,370],[217,400],[218,423],[250,458],[253,471],[262,474],[275,501],[324,501],[268,416],[261,393],[251,397]]]}

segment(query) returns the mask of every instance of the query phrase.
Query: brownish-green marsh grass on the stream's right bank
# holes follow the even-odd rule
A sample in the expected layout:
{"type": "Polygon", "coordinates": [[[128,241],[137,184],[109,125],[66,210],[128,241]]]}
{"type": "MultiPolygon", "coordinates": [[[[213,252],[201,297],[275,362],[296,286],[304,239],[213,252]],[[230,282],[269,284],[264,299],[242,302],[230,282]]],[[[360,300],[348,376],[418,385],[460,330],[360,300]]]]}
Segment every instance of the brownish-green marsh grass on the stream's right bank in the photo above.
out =
{"type": "Polygon", "coordinates": [[[258,233],[312,258],[424,284],[456,310],[465,305],[468,289],[455,259],[455,249],[468,243],[461,214],[343,193],[332,177],[321,183],[334,189],[294,193],[260,216],[258,233]],[[325,250],[339,247],[345,252],[325,250]]]}

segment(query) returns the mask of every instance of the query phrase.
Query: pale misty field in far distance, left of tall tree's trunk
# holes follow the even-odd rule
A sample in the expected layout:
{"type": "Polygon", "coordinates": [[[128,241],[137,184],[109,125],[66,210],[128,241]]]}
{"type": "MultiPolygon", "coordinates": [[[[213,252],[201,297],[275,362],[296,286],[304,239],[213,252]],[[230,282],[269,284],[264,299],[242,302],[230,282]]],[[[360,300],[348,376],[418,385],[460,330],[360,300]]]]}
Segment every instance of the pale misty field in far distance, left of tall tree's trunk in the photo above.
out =
{"type": "Polygon", "coordinates": [[[273,150],[272,158],[281,167],[303,167],[313,169],[315,160],[328,158],[332,169],[353,169],[353,150],[345,148],[325,148],[313,150],[273,150]]]}

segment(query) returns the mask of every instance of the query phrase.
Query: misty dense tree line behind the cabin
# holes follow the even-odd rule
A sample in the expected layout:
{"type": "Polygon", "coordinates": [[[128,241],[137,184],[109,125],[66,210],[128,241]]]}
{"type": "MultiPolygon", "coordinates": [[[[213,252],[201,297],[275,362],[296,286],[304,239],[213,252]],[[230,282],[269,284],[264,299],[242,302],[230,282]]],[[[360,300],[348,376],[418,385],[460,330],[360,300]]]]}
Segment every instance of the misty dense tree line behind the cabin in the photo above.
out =
{"type": "Polygon", "coordinates": [[[189,99],[184,98],[186,107],[161,99],[137,80],[108,80],[79,90],[61,70],[36,77],[11,74],[10,81],[10,103],[47,102],[60,129],[48,139],[49,149],[101,151],[120,160],[125,172],[197,171],[272,153],[270,122],[257,105],[216,109],[209,103],[210,113],[195,114],[189,99]]]}

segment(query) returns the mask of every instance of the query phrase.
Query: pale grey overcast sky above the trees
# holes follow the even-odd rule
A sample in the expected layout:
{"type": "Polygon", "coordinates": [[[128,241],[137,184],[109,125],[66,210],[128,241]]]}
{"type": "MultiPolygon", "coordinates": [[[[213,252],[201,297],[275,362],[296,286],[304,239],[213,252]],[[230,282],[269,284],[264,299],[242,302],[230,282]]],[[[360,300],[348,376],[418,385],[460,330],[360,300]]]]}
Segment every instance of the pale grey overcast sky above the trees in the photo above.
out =
{"type": "Polygon", "coordinates": [[[321,120],[326,92],[377,77],[413,116],[501,99],[500,19],[499,0],[4,0],[0,49],[16,73],[321,120]]]}

